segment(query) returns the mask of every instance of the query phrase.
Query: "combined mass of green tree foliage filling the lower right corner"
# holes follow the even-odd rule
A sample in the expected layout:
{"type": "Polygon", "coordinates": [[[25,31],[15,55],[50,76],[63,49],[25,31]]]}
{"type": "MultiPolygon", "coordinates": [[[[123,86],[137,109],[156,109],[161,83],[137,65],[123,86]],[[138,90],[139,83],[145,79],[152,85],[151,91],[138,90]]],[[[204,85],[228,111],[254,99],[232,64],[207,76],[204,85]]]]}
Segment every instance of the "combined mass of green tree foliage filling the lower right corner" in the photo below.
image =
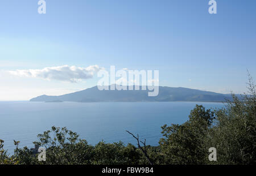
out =
{"type": "Polygon", "coordinates": [[[196,105],[187,122],[164,125],[159,142],[164,164],[255,164],[256,95],[250,75],[248,89],[223,109],[196,105]],[[217,161],[208,160],[210,147],[217,149],[217,161]]]}

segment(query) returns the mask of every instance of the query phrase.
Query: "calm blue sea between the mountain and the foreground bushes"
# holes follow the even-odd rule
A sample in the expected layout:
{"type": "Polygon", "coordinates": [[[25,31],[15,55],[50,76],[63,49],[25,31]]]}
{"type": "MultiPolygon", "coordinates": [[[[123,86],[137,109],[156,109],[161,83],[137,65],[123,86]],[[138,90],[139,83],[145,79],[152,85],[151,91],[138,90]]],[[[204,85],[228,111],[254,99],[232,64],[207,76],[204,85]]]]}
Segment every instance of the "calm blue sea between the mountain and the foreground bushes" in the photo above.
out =
{"type": "Polygon", "coordinates": [[[196,104],[224,107],[214,102],[0,102],[0,139],[13,153],[13,140],[19,140],[20,147],[33,147],[36,135],[54,125],[77,132],[93,145],[101,140],[136,144],[125,130],[158,145],[160,127],[184,123],[196,104]]]}

